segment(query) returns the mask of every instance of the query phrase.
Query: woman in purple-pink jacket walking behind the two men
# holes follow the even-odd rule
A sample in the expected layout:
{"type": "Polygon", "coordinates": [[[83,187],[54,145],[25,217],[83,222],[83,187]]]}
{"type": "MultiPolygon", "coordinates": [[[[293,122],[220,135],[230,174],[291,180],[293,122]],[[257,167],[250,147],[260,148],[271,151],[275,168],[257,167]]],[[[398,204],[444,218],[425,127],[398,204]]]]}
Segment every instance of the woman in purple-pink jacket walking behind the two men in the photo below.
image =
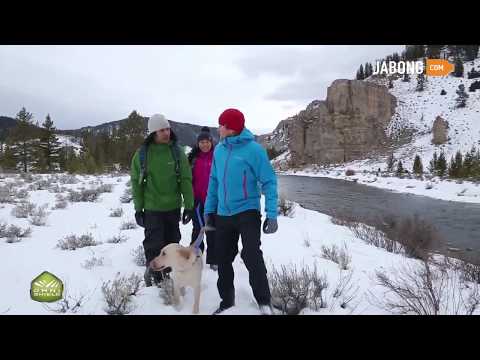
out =
{"type": "MultiPolygon", "coordinates": [[[[200,233],[201,225],[198,221],[198,214],[202,217],[203,223],[203,210],[205,199],[207,198],[210,170],[212,168],[213,149],[214,144],[210,129],[207,126],[204,126],[197,137],[197,145],[188,155],[188,160],[192,166],[192,185],[195,210],[193,216],[192,244],[200,233]]],[[[210,265],[210,269],[216,271],[218,265],[215,258],[215,231],[207,231],[205,234],[207,236],[207,264],[210,265]]],[[[205,244],[203,241],[200,244],[200,249],[202,252],[205,250],[205,244]]]]}

